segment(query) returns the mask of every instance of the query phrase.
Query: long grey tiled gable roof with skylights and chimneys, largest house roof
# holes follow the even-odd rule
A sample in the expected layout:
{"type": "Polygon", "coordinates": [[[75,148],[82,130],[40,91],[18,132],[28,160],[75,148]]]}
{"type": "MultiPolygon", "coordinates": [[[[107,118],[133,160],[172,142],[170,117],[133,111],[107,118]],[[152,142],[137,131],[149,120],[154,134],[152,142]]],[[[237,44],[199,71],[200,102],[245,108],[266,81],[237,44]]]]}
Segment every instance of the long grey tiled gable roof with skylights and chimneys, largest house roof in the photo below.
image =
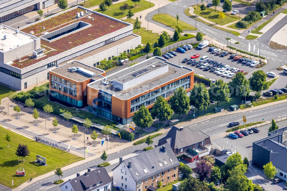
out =
{"type": "Polygon", "coordinates": [[[168,144],[162,146],[158,146],[123,161],[127,167],[129,167],[129,161],[131,161],[131,167],[128,169],[135,182],[145,180],[146,178],[179,166],[179,161],[170,146],[168,144]],[[166,147],[165,152],[163,152],[162,146],[166,147]],[[164,163],[165,161],[167,164],[164,163]],[[160,166],[160,163],[162,166],[160,166]],[[147,170],[146,173],[144,172],[144,169],[147,170]]]}

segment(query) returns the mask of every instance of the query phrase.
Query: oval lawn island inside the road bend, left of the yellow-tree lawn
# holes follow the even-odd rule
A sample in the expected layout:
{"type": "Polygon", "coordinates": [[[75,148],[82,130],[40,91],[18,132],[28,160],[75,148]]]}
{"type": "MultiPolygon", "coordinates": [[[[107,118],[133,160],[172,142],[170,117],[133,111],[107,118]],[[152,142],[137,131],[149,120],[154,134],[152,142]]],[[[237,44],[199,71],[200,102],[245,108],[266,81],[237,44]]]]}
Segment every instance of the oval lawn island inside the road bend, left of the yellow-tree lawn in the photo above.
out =
{"type": "Polygon", "coordinates": [[[153,15],[152,20],[165,24],[174,29],[175,29],[175,26],[178,25],[182,30],[196,30],[194,26],[191,26],[190,24],[187,24],[181,20],[179,20],[177,24],[177,19],[175,17],[172,17],[171,15],[164,14],[164,13],[160,13],[159,15],[158,14],[153,15]]]}

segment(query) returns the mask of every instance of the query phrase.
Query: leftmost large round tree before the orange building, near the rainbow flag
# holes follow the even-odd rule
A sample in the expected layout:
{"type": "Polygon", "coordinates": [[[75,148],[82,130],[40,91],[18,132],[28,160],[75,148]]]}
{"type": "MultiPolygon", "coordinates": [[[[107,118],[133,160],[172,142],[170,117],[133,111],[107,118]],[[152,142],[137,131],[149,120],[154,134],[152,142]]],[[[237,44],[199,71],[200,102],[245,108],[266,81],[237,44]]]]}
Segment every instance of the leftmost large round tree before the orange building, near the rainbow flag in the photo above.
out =
{"type": "Polygon", "coordinates": [[[141,132],[143,132],[144,127],[150,127],[153,120],[148,108],[142,105],[133,115],[133,122],[141,128],[141,132]]]}

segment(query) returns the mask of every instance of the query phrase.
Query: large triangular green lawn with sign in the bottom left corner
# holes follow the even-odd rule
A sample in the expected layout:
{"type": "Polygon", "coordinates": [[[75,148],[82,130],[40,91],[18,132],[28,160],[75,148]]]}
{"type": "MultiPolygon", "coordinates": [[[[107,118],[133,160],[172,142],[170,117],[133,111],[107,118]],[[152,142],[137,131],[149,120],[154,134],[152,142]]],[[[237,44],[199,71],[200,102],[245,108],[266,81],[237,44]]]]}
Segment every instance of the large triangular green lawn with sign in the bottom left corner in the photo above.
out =
{"type": "MultiPolygon", "coordinates": [[[[0,130],[0,184],[10,188],[12,187],[12,180],[14,180],[14,188],[19,186],[19,176],[15,175],[15,171],[20,167],[24,168],[26,173],[26,176],[21,177],[21,182],[24,183],[31,177],[36,178],[47,172],[54,171],[58,167],[64,167],[83,159],[82,157],[54,149],[42,143],[37,143],[3,127],[0,127],[0,130]],[[11,135],[10,147],[7,147],[7,141],[5,141],[5,136],[8,132],[11,135]],[[15,155],[19,143],[28,145],[30,151],[30,156],[24,157],[23,163],[21,157],[15,155]],[[36,163],[36,154],[46,157],[48,165],[42,166],[36,163]]],[[[55,177],[52,181],[57,179],[58,177],[55,177]]]]}

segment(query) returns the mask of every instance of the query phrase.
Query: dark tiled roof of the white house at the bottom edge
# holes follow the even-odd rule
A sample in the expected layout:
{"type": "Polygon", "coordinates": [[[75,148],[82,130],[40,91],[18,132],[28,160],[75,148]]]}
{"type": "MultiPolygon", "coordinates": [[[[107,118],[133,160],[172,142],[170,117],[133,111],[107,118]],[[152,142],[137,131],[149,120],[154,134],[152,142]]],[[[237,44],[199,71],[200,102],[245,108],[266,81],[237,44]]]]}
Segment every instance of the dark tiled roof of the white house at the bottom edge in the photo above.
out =
{"type": "Polygon", "coordinates": [[[69,180],[69,182],[71,183],[74,190],[85,191],[90,189],[90,186],[93,186],[93,188],[98,188],[102,185],[112,182],[112,180],[110,179],[110,176],[108,175],[108,172],[105,168],[98,168],[88,172],[88,176],[83,174],[73,178],[72,180],[69,180]],[[99,182],[102,182],[102,184],[96,186],[96,184],[99,182]]]}

